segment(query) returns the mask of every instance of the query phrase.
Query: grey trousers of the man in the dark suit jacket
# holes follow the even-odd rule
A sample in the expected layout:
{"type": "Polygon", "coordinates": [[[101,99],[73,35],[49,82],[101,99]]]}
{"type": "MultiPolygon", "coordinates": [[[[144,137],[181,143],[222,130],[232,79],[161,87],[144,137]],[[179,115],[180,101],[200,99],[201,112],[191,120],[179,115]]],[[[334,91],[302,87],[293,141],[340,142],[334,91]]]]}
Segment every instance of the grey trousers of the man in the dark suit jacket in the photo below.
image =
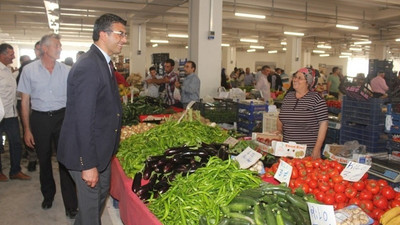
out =
{"type": "Polygon", "coordinates": [[[110,164],[104,171],[99,172],[99,181],[94,188],[82,180],[81,171],[69,171],[78,193],[79,212],[74,225],[101,225],[101,215],[110,191],[110,164]]]}

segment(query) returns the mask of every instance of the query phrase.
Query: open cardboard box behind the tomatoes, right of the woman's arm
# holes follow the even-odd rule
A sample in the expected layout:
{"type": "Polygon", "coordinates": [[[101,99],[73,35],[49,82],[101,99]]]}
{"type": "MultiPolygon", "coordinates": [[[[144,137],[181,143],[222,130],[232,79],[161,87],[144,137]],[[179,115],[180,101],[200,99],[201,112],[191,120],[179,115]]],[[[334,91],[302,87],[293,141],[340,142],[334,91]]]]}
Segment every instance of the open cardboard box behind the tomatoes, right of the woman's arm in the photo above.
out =
{"type": "Polygon", "coordinates": [[[335,160],[342,164],[347,164],[348,162],[357,162],[362,164],[371,165],[372,158],[369,154],[353,154],[351,158],[346,158],[339,156],[340,151],[343,149],[343,145],[330,145],[326,144],[323,154],[326,158],[335,160]]]}

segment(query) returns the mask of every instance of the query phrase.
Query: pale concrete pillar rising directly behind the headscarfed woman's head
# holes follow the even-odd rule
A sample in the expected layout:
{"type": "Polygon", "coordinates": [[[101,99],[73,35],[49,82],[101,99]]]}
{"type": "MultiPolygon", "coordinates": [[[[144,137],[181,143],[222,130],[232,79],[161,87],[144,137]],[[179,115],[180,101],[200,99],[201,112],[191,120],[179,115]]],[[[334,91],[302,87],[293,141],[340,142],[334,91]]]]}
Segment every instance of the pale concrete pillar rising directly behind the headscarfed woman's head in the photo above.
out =
{"type": "Polygon", "coordinates": [[[302,67],[301,38],[287,37],[286,42],[287,46],[285,71],[287,74],[289,74],[295,72],[302,67]]]}

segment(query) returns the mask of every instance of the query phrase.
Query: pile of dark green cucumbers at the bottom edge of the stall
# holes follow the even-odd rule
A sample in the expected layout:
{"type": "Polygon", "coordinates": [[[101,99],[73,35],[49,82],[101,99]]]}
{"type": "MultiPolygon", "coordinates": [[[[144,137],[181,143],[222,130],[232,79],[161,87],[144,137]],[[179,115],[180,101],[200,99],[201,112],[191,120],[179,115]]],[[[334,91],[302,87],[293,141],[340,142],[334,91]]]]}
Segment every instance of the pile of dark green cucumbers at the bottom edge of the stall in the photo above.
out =
{"type": "Polygon", "coordinates": [[[294,194],[285,184],[262,183],[260,187],[241,191],[221,208],[224,218],[219,225],[304,225],[311,224],[307,202],[318,203],[302,189],[294,194]]]}

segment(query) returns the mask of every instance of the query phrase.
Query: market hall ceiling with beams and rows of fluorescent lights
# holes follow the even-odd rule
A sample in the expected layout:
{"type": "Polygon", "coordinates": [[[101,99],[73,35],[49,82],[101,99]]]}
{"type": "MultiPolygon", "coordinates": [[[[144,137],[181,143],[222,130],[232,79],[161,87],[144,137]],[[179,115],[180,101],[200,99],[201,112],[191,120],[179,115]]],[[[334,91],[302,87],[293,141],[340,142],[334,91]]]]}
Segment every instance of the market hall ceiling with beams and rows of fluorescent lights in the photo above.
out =
{"type": "MultiPolygon", "coordinates": [[[[50,0],[57,1],[57,0],[50,0]]],[[[210,1],[210,0],[204,0],[210,1]]],[[[214,0],[217,1],[217,0],[214,0]]],[[[58,0],[59,33],[63,41],[92,42],[94,20],[104,13],[115,13],[130,23],[146,23],[146,42],[168,39],[170,46],[186,46],[188,39],[167,35],[187,34],[188,0],[58,0]]],[[[204,16],[208,19],[208,15],[204,16]]],[[[222,42],[247,50],[249,43],[240,38],[257,39],[259,46],[282,52],[284,31],[304,33],[303,49],[318,44],[331,45],[331,55],[349,51],[354,42],[370,40],[354,54],[372,54],[384,43],[391,54],[400,57],[399,0],[224,0],[222,42]],[[235,16],[235,13],[265,15],[265,19],[235,16]],[[359,27],[339,29],[336,24],[359,27]]],[[[49,28],[44,1],[0,0],[0,41],[36,42],[49,28]]],[[[357,47],[357,46],[356,46],[357,47]]],[[[259,50],[257,50],[259,51],[259,50]]]]}

